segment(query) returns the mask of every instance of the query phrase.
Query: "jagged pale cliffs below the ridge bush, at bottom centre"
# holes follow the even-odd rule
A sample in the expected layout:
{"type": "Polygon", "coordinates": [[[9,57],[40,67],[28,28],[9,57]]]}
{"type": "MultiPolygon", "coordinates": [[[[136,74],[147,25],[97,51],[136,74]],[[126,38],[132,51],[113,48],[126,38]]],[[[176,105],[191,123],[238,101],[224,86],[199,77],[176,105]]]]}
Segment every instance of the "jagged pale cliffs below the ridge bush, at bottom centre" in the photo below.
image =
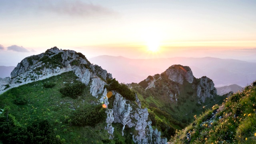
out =
{"type": "Polygon", "coordinates": [[[157,129],[153,130],[151,121],[148,119],[148,110],[142,109],[138,105],[126,100],[118,93],[115,94],[113,104],[114,123],[123,125],[122,134],[125,126],[134,127],[137,131],[132,135],[133,141],[138,144],[165,144],[166,138],[161,138],[161,133],[157,129]]]}

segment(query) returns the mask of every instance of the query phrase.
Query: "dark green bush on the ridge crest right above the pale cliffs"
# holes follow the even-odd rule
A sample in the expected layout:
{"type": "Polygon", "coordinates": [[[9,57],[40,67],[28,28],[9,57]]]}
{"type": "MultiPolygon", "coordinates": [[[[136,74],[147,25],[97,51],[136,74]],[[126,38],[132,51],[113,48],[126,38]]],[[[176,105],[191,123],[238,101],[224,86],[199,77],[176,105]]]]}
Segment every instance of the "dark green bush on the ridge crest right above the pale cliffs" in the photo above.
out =
{"type": "Polygon", "coordinates": [[[128,88],[128,86],[126,86],[125,84],[123,83],[119,84],[119,82],[115,78],[112,80],[107,79],[107,83],[109,85],[106,85],[105,87],[107,88],[108,91],[115,90],[127,100],[132,100],[132,101],[136,100],[135,92],[130,90],[130,88],[128,88]]]}

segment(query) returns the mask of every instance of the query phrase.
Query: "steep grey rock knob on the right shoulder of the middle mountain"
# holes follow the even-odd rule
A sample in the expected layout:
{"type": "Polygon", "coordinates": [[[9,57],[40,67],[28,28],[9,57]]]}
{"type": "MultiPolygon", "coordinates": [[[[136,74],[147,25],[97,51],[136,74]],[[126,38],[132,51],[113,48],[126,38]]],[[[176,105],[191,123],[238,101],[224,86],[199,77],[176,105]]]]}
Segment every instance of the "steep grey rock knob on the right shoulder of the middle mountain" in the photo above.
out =
{"type": "Polygon", "coordinates": [[[217,94],[214,83],[210,78],[203,76],[197,85],[197,96],[200,98],[199,103],[204,103],[206,98],[213,98],[217,94]]]}

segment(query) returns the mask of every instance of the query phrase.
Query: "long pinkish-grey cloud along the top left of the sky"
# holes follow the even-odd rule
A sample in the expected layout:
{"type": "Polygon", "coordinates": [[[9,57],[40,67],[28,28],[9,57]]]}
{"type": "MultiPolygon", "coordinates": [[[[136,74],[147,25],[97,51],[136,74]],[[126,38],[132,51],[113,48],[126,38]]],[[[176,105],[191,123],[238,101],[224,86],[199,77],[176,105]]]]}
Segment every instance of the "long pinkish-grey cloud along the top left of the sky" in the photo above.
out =
{"type": "Polygon", "coordinates": [[[1,3],[0,12],[32,13],[37,16],[45,12],[82,17],[116,14],[114,10],[82,0],[4,0],[1,3]]]}

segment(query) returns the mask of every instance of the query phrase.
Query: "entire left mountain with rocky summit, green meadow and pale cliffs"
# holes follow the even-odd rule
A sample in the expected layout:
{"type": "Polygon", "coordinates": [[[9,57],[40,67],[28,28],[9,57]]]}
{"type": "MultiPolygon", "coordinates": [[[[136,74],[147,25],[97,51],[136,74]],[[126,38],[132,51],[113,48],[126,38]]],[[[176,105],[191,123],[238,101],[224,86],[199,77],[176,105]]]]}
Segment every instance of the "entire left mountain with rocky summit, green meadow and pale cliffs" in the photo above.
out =
{"type": "Polygon", "coordinates": [[[136,94],[81,53],[54,47],[24,58],[11,76],[1,80],[3,143],[167,141],[136,94]]]}

